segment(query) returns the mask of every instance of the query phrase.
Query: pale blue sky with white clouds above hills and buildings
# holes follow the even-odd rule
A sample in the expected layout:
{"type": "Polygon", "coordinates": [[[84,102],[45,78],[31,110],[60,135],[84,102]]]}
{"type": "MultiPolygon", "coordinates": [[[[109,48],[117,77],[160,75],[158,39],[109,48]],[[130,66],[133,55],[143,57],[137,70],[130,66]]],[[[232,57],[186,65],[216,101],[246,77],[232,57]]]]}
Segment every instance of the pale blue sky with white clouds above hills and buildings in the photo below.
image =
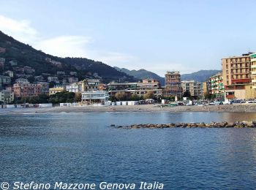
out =
{"type": "Polygon", "coordinates": [[[0,30],[53,56],[164,76],[256,51],[255,1],[0,0],[0,30]]]}

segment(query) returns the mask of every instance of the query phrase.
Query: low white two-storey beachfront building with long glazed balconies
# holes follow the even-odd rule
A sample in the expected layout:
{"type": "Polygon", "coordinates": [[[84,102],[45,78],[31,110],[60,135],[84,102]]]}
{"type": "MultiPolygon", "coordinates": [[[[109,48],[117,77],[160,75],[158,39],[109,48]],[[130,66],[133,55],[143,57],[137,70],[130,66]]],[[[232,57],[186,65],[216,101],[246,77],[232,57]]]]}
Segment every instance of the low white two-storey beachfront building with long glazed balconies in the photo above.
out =
{"type": "Polygon", "coordinates": [[[106,91],[85,91],[82,93],[82,102],[86,104],[108,104],[106,91]]]}

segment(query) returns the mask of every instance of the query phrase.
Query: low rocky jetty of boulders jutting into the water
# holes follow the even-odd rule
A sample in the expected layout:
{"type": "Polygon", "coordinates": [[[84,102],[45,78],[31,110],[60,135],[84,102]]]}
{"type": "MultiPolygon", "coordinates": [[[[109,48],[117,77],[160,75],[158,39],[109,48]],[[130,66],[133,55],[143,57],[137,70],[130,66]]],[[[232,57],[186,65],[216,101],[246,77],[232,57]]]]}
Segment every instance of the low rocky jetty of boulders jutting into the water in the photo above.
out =
{"type": "Polygon", "coordinates": [[[163,129],[163,128],[256,128],[256,121],[247,122],[247,121],[238,121],[234,123],[227,122],[211,122],[211,123],[166,123],[166,124],[133,124],[130,126],[116,126],[112,124],[111,126],[121,128],[121,129],[163,129]]]}

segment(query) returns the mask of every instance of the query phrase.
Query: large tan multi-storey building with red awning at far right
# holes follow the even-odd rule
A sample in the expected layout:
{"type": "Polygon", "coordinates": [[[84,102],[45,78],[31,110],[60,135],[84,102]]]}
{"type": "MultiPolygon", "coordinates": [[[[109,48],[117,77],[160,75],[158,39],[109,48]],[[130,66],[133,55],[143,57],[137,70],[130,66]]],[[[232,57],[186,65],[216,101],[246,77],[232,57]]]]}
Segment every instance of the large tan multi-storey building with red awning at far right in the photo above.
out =
{"type": "Polygon", "coordinates": [[[251,53],[222,58],[223,85],[227,99],[254,99],[250,87],[251,53]]]}

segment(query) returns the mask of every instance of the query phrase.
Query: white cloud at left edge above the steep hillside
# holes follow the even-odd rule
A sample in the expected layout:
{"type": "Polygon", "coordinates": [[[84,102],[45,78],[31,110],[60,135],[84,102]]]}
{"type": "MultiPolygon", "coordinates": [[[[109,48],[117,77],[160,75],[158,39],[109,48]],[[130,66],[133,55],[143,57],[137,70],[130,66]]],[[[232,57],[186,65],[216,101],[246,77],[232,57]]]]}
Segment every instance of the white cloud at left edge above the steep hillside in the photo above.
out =
{"type": "Polygon", "coordinates": [[[29,20],[14,20],[0,15],[0,28],[5,34],[21,42],[31,44],[37,38],[37,30],[31,26],[29,20]]]}

